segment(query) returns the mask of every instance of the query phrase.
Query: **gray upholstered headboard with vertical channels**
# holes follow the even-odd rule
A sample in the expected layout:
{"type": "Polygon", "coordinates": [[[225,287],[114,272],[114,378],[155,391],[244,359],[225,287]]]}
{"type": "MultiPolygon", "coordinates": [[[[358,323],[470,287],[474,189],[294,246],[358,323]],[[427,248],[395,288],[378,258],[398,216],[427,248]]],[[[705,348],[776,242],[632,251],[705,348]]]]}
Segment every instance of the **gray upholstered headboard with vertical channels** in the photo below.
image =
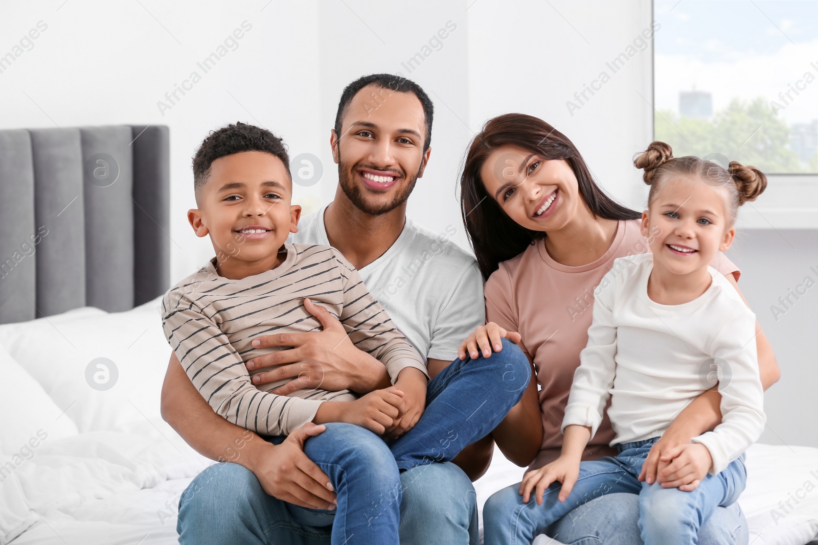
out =
{"type": "Polygon", "coordinates": [[[0,324],[169,288],[168,127],[0,131],[0,324]]]}

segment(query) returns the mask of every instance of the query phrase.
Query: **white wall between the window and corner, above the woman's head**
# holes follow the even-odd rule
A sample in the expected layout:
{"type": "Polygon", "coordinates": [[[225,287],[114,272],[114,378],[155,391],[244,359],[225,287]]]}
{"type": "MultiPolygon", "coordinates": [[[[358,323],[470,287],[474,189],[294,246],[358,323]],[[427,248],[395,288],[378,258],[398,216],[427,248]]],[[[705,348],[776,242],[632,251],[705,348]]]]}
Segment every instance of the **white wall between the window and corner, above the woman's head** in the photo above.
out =
{"type": "Polygon", "coordinates": [[[616,73],[606,63],[650,30],[651,2],[478,1],[468,14],[472,127],[506,112],[542,118],[577,145],[609,194],[641,209],[647,186],[631,159],[653,136],[649,42],[616,73]],[[609,81],[581,104],[574,93],[602,72],[609,81]]]}

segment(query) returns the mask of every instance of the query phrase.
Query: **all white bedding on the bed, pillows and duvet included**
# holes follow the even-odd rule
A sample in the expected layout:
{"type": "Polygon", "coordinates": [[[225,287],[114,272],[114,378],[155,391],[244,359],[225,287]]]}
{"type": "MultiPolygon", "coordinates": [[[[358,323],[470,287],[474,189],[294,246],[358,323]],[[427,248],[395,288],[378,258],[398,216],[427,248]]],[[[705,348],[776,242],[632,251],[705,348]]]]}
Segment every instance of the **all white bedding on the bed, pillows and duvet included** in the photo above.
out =
{"type": "MultiPolygon", "coordinates": [[[[178,498],[211,462],[159,416],[169,350],[157,302],[0,326],[0,349],[8,350],[0,350],[0,373],[14,369],[18,377],[0,382],[0,545],[176,543],[178,498]],[[119,368],[108,391],[85,381],[97,357],[119,368]],[[4,395],[38,410],[3,404],[4,395]]],[[[479,507],[522,474],[497,452],[475,483],[479,507]]],[[[754,445],[748,475],[739,501],[753,545],[802,545],[816,536],[818,449],[754,445]]]]}

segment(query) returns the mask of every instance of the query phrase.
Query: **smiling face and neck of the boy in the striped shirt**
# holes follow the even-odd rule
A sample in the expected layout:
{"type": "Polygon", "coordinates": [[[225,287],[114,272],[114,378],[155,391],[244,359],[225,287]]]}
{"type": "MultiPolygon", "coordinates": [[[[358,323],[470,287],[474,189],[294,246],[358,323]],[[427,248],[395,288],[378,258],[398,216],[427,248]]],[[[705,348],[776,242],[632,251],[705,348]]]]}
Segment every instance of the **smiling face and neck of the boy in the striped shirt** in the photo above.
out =
{"type": "Polygon", "coordinates": [[[196,236],[210,235],[219,275],[241,279],[279,266],[298,230],[290,173],[275,155],[244,151],[213,161],[199,208],[187,212],[196,236]]]}

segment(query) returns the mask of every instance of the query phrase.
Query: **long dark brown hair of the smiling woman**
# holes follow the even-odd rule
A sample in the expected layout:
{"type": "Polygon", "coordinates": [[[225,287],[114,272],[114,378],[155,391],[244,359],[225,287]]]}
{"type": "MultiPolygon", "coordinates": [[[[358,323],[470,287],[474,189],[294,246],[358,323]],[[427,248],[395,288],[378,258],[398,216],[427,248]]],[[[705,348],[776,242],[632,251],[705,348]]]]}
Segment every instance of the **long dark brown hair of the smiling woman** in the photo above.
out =
{"type": "Polygon", "coordinates": [[[526,114],[503,114],[490,119],[474,136],[461,175],[461,214],[483,279],[497,270],[501,261],[518,256],[529,244],[546,236],[512,220],[486,191],[480,170],[492,151],[516,145],[542,159],[565,159],[579,185],[579,194],[594,217],[632,220],[641,217],[611,199],[591,177],[582,155],[563,133],[542,119],[526,114]]]}

